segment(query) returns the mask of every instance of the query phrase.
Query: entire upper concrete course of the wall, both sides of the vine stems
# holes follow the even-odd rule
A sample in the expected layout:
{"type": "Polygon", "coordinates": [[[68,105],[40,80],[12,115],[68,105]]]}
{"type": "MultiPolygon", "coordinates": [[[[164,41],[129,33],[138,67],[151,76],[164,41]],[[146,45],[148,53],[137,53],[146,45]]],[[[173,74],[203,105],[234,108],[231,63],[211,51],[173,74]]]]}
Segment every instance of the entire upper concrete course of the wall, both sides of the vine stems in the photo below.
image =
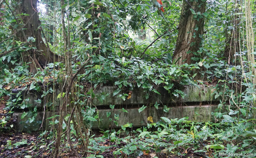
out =
{"type": "MultiPolygon", "coordinates": [[[[171,96],[167,90],[165,90],[163,87],[160,87],[157,89],[157,91],[161,94],[157,94],[154,92],[151,92],[149,94],[149,98],[146,99],[147,92],[143,88],[134,88],[134,90],[131,93],[131,99],[126,99],[123,101],[121,97],[118,97],[119,94],[127,94],[128,91],[120,91],[117,95],[113,96],[113,92],[117,88],[115,86],[103,86],[99,87],[94,90],[94,94],[96,97],[92,99],[92,104],[99,106],[99,105],[146,105],[146,104],[154,104],[155,102],[159,102],[164,105],[168,104],[175,104],[178,102],[211,102],[211,101],[219,101],[219,98],[214,97],[214,94],[212,94],[212,91],[214,89],[213,85],[210,86],[185,86],[182,90],[183,93],[185,93],[184,98],[181,97],[177,98],[175,96],[171,96]]],[[[15,89],[17,91],[17,89],[15,89]]],[[[21,91],[21,89],[19,89],[21,91]]],[[[57,98],[60,91],[57,89],[53,94],[50,93],[46,97],[41,97],[41,93],[37,91],[28,91],[28,90],[22,90],[23,93],[23,99],[25,100],[25,104],[30,105],[30,107],[43,107],[44,105],[44,99],[47,99],[52,102],[53,95],[55,96],[54,101],[52,104],[55,107],[58,107],[60,105],[60,99],[57,98]],[[27,100],[28,99],[28,100],[27,100]],[[40,99],[41,103],[37,100],[40,99]]],[[[47,105],[48,107],[51,107],[51,105],[47,105]]],[[[52,109],[54,111],[55,109],[52,109]]],[[[56,111],[56,110],[55,110],[56,111]]]]}

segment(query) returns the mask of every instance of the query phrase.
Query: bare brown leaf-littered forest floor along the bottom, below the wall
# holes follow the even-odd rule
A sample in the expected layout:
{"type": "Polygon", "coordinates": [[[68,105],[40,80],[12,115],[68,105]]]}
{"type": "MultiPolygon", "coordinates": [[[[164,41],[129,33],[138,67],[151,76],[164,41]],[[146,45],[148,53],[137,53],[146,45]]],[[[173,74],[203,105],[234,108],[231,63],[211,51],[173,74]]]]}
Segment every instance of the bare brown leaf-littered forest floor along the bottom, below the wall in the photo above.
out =
{"type": "MultiPolygon", "coordinates": [[[[0,158],[50,158],[52,148],[47,148],[47,145],[52,142],[51,139],[42,139],[39,134],[29,134],[29,133],[10,133],[10,134],[1,134],[0,135],[0,158]]],[[[102,155],[104,158],[132,158],[132,155],[114,155],[113,152],[118,150],[116,142],[112,142],[108,139],[102,144],[102,146],[111,146],[109,150],[103,153],[97,153],[97,155],[102,155]]],[[[52,147],[52,145],[51,145],[52,147]]],[[[164,151],[164,148],[162,148],[164,151]]],[[[59,158],[76,158],[70,153],[63,149],[61,151],[59,158]]],[[[183,157],[198,157],[199,155],[194,155],[191,150],[184,150],[186,156],[183,157]],[[194,155],[194,156],[193,156],[194,155]]],[[[168,154],[169,155],[169,154],[168,154]]],[[[136,156],[136,158],[178,158],[180,156],[169,155],[166,156],[166,153],[159,152],[156,153],[153,150],[143,151],[143,154],[136,156]]],[[[201,157],[201,156],[199,156],[201,157]]]]}

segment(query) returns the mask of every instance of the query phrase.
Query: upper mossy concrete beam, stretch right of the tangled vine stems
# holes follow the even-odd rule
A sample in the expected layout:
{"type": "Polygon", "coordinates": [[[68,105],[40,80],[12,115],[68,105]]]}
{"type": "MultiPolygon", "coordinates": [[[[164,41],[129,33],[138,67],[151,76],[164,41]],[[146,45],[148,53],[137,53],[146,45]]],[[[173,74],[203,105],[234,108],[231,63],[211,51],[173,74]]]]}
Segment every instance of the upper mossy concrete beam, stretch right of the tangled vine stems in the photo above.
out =
{"type": "MultiPolygon", "coordinates": [[[[184,98],[181,97],[177,98],[175,96],[171,96],[167,90],[160,87],[157,89],[157,91],[161,94],[156,94],[151,92],[149,99],[146,99],[146,92],[145,89],[142,88],[135,88],[133,92],[131,93],[131,99],[126,99],[123,101],[120,97],[118,97],[119,94],[128,93],[127,91],[121,91],[117,95],[113,96],[113,92],[115,91],[114,86],[104,86],[97,88],[94,91],[94,94],[96,94],[96,98],[92,100],[92,103],[94,105],[125,105],[125,104],[147,104],[147,103],[155,103],[155,102],[161,102],[164,105],[167,105],[169,103],[176,103],[176,102],[211,102],[211,101],[219,101],[219,98],[215,99],[215,95],[212,94],[212,91],[214,89],[213,85],[210,86],[185,86],[182,90],[183,93],[185,93],[184,98]],[[107,97],[101,97],[102,95],[106,95],[107,97]],[[100,99],[99,99],[100,98],[100,99]],[[104,98],[104,99],[102,99],[104,98]]],[[[126,97],[127,98],[127,97],[126,97]]]]}

